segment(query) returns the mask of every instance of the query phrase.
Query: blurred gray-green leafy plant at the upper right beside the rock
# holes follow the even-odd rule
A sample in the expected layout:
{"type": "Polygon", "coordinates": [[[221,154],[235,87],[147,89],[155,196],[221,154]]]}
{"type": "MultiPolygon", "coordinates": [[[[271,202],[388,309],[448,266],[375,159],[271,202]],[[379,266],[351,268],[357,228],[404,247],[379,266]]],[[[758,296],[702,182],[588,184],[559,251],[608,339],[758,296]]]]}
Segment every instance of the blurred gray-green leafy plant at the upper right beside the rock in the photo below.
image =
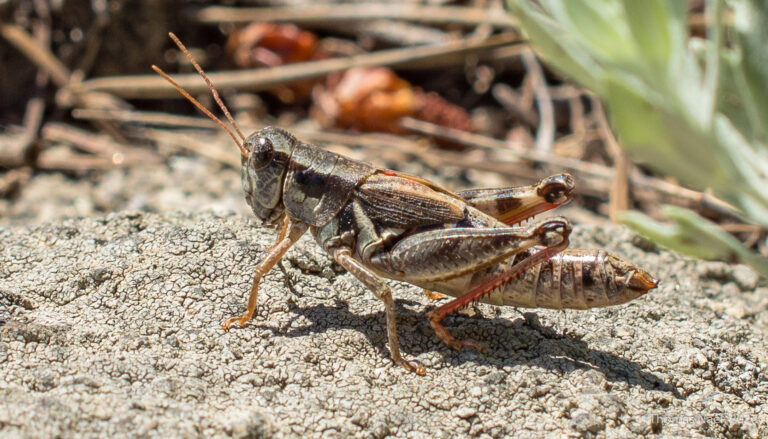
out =
{"type": "MultiPolygon", "coordinates": [[[[544,61],[604,100],[633,159],[768,227],[768,0],[706,2],[705,38],[690,36],[685,0],[508,1],[544,61]]],[[[713,222],[663,212],[670,224],[638,212],[621,220],[678,251],[768,276],[768,260],[713,222]]]]}

